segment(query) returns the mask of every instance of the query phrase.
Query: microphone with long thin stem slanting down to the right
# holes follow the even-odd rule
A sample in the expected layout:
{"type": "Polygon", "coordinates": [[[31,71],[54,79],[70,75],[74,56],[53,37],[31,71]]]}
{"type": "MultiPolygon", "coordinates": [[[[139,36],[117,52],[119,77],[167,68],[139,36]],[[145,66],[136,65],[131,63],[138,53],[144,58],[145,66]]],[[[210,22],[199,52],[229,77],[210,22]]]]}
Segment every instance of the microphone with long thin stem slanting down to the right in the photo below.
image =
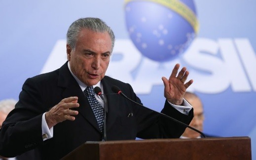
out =
{"type": "Polygon", "coordinates": [[[139,104],[139,103],[137,103],[137,102],[131,100],[131,99],[128,98],[125,94],[123,94],[122,91],[121,91],[121,89],[120,89],[119,87],[117,87],[116,85],[113,85],[113,86],[111,87],[111,89],[112,89],[112,91],[113,91],[114,93],[120,94],[121,96],[123,96],[123,97],[126,98],[127,100],[129,100],[129,101],[131,101],[131,102],[133,102],[133,103],[135,103],[135,104],[137,104],[137,105],[139,105],[139,106],[141,106],[141,107],[144,107],[144,108],[146,108],[146,109],[148,109],[148,110],[150,110],[150,111],[153,111],[153,112],[155,112],[155,113],[161,114],[161,115],[163,115],[164,117],[167,117],[167,118],[169,118],[169,119],[171,119],[171,120],[173,120],[173,121],[175,121],[175,122],[177,122],[177,123],[183,125],[184,127],[187,127],[187,128],[189,128],[189,129],[191,129],[191,130],[197,132],[197,133],[200,133],[203,137],[205,137],[205,134],[204,134],[204,133],[198,131],[197,129],[195,129],[195,128],[191,127],[191,126],[188,126],[187,124],[185,124],[185,123],[183,123],[183,122],[181,122],[181,121],[179,121],[179,120],[177,120],[177,119],[175,119],[175,118],[173,118],[173,117],[170,117],[170,116],[168,116],[168,115],[166,115],[166,114],[164,114],[164,113],[157,112],[157,111],[155,111],[155,110],[153,110],[153,109],[150,109],[150,108],[148,108],[148,107],[145,107],[145,106],[143,106],[143,105],[141,105],[141,104],[139,104]]]}

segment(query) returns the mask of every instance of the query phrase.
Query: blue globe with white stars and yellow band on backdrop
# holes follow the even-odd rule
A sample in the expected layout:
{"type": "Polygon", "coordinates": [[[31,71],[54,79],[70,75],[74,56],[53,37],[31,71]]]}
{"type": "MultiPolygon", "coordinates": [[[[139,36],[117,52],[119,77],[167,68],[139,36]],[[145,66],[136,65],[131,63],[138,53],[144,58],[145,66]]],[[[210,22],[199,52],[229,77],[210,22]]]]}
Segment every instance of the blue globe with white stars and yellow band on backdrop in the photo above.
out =
{"type": "Polygon", "coordinates": [[[125,0],[125,19],[137,49],[159,62],[184,53],[199,28],[193,0],[125,0]]]}

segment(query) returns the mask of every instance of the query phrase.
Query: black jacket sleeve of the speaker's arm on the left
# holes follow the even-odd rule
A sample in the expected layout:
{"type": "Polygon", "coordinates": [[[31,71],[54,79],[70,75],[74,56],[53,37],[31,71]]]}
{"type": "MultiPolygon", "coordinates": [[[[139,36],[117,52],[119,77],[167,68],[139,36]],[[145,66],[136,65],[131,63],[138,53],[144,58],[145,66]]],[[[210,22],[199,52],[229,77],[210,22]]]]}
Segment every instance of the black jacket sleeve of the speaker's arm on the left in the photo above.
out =
{"type": "Polygon", "coordinates": [[[46,111],[40,104],[38,85],[25,81],[15,108],[0,130],[0,155],[15,157],[43,143],[41,120],[46,111]]]}

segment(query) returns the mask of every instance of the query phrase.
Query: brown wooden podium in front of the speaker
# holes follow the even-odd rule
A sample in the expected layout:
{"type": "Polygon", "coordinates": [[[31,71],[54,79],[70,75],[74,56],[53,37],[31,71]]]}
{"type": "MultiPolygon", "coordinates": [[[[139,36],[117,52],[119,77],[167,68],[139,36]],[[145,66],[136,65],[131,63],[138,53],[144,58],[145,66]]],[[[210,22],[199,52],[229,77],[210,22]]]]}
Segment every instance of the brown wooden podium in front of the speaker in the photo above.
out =
{"type": "Polygon", "coordinates": [[[86,142],[62,160],[251,160],[250,137],[86,142]]]}

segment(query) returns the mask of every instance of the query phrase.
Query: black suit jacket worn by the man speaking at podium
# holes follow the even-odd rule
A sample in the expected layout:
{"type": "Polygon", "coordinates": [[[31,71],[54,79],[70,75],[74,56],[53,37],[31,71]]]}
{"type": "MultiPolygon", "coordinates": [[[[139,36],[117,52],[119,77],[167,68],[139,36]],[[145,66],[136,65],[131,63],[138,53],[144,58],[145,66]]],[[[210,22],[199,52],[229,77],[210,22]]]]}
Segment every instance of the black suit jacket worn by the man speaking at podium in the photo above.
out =
{"type": "MultiPolygon", "coordinates": [[[[105,93],[113,93],[118,86],[130,99],[141,103],[128,83],[105,76],[102,80],[105,93]]],[[[159,114],[139,107],[120,95],[107,95],[107,139],[125,140],[136,137],[179,138],[184,127],[159,114]],[[128,117],[129,113],[133,116],[128,117]]],[[[167,102],[163,113],[189,124],[193,109],[184,115],[167,102]]],[[[86,141],[101,141],[102,133],[89,103],[71,75],[67,63],[60,69],[38,75],[25,81],[19,101],[7,116],[0,130],[0,155],[13,157],[36,148],[44,160],[58,160],[86,141]],[[53,138],[42,140],[42,114],[62,99],[77,96],[80,107],[75,121],[66,120],[53,127],[53,138]]],[[[37,158],[38,159],[38,158],[37,158]]]]}

